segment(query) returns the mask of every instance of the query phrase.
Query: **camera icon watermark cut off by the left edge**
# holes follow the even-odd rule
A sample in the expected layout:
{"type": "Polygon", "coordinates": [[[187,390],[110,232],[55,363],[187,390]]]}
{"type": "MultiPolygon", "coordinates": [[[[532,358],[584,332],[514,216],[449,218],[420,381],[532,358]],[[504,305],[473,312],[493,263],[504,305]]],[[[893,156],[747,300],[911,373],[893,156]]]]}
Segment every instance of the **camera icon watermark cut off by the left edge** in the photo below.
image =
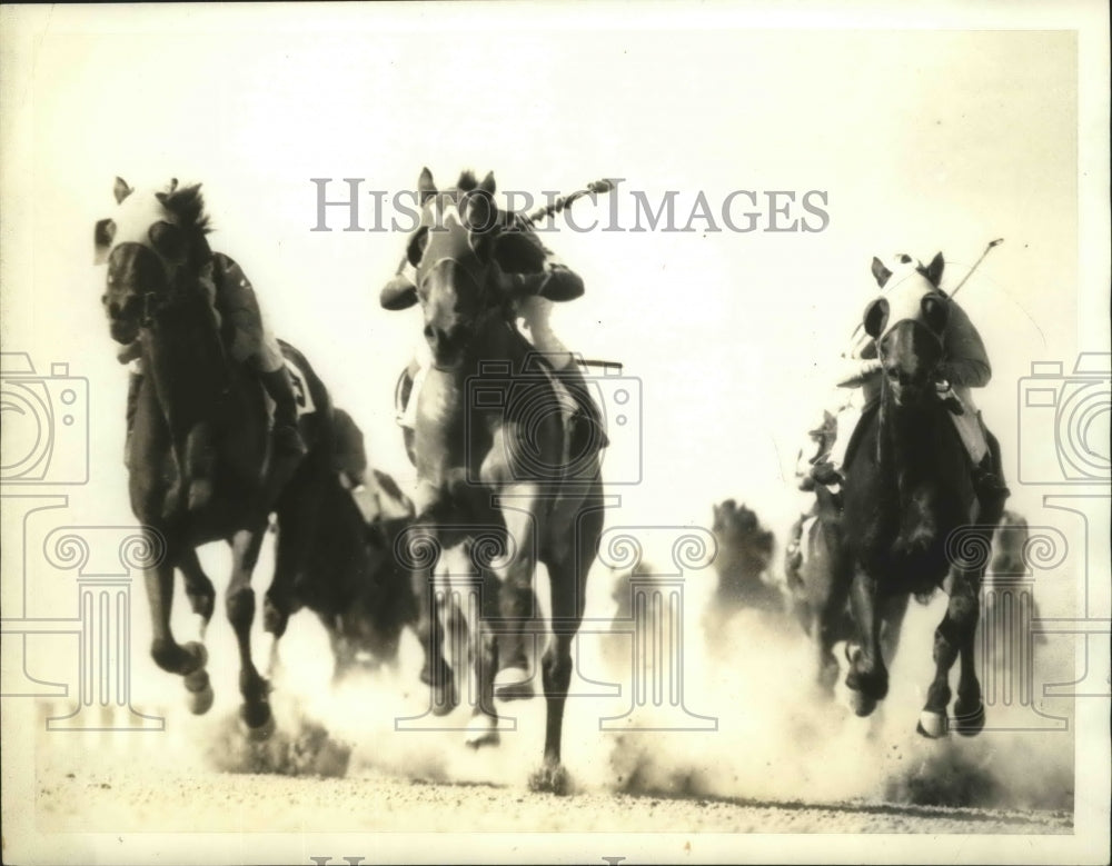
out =
{"type": "Polygon", "coordinates": [[[0,354],[0,482],[89,480],[89,382],[52,364],[36,372],[26,352],[0,354]]]}

